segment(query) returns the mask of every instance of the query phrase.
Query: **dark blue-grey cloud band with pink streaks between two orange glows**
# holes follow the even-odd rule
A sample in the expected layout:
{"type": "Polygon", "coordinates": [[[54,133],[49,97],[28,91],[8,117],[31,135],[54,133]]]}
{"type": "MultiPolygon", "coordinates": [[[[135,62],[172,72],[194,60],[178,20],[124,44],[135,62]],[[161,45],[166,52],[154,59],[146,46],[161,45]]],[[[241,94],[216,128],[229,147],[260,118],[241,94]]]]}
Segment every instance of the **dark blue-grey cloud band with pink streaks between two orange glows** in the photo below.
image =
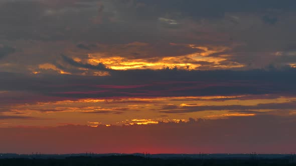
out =
{"type": "MultiPolygon", "coordinates": [[[[29,95],[30,97],[25,100],[22,97],[17,97],[16,99],[20,102],[77,99],[81,97],[113,98],[241,94],[292,96],[295,93],[295,73],[293,68],[269,71],[111,70],[108,76],[35,75],[1,72],[0,90],[27,91],[32,94],[39,94],[29,95]]],[[[17,100],[11,101],[17,102],[17,100]]],[[[10,102],[10,99],[7,98],[6,102],[10,102]]],[[[284,107],[284,105],[281,106],[284,107]]]]}

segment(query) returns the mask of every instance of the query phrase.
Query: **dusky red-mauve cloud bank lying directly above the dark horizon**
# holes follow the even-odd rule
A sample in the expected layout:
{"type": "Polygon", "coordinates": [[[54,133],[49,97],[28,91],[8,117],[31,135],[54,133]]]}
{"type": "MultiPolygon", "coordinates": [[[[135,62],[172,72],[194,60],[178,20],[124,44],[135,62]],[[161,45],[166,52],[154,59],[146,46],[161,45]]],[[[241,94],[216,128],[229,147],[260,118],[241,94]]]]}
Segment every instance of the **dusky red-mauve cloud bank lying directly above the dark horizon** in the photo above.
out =
{"type": "Polygon", "coordinates": [[[0,128],[0,152],[284,153],[296,146],[294,124],[294,116],[260,115],[150,125],[10,127],[0,128]]]}

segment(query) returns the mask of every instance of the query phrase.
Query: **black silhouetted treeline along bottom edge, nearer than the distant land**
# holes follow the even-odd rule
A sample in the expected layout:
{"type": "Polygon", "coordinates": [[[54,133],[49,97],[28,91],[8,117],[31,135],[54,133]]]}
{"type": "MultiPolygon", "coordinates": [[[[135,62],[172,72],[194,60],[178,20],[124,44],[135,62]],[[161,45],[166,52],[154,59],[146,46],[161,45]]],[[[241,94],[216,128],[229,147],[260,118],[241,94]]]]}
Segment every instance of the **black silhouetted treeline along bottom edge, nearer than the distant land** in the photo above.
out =
{"type": "Polygon", "coordinates": [[[124,155],[124,156],[103,156],[103,157],[67,157],[65,159],[41,159],[41,158],[10,158],[0,159],[0,166],[119,166],[119,165],[296,165],[290,163],[288,158],[282,159],[161,159],[147,158],[142,156],[124,155]]]}

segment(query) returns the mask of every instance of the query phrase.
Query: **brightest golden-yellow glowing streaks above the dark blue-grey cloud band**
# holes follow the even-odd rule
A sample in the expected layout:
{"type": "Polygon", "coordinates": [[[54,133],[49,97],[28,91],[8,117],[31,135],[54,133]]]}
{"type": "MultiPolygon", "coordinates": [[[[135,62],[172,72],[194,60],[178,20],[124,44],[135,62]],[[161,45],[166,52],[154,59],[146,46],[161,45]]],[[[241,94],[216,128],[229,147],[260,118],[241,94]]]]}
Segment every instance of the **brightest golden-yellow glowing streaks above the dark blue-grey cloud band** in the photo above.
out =
{"type": "MultiPolygon", "coordinates": [[[[179,45],[171,43],[171,45],[179,45]]],[[[231,55],[221,53],[220,56],[211,56],[213,53],[224,52],[230,48],[228,47],[209,47],[198,46],[195,44],[188,44],[187,47],[197,48],[201,52],[179,56],[165,56],[157,59],[154,58],[129,58],[120,55],[105,56],[102,53],[89,53],[87,63],[97,65],[99,63],[105,64],[107,67],[115,70],[126,69],[163,69],[166,67],[179,69],[210,69],[210,68],[238,68],[243,67],[243,64],[229,61],[228,57],[231,55]],[[225,63],[227,62],[227,63],[225,63]]],[[[77,62],[80,59],[75,58],[77,62]]]]}

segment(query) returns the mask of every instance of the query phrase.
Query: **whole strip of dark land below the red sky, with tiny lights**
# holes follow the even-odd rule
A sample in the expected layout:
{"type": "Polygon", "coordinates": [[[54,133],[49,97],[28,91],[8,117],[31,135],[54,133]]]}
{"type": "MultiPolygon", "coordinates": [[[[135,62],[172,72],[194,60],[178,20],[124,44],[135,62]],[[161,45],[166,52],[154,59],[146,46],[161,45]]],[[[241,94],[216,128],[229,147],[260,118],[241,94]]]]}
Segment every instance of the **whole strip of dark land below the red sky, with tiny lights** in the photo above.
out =
{"type": "Polygon", "coordinates": [[[38,165],[296,165],[295,155],[259,154],[1,154],[0,166],[38,165]],[[6,155],[6,156],[5,156],[6,155]],[[230,156],[229,156],[230,155],[230,156]],[[216,156],[216,157],[214,157],[216,156]],[[265,157],[264,157],[265,156],[265,157]]]}

